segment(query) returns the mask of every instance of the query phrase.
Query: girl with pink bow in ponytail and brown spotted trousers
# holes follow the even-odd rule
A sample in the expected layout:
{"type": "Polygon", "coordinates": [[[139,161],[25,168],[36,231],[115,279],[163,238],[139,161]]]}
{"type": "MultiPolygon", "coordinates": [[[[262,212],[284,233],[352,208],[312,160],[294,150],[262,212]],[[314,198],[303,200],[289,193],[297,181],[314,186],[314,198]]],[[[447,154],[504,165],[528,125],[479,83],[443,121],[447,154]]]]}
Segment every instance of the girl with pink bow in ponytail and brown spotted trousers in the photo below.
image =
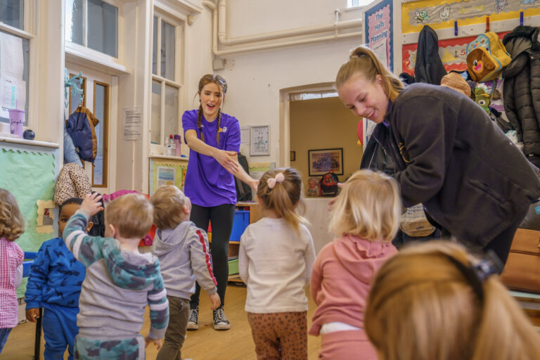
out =
{"type": "Polygon", "coordinates": [[[259,181],[257,198],[262,219],[245,229],[238,255],[257,359],[307,359],[304,288],[315,251],[302,224],[307,221],[296,211],[302,178],[295,169],[269,170],[259,181]]]}

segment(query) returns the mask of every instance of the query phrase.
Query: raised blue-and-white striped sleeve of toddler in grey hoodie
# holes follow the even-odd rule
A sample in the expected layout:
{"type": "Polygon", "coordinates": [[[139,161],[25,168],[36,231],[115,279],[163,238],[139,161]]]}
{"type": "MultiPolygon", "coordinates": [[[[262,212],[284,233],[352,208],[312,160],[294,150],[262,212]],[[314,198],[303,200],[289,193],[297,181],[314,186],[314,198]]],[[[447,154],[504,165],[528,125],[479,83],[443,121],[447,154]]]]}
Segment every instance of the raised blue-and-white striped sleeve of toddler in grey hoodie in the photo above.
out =
{"type": "Polygon", "coordinates": [[[75,259],[84,266],[90,266],[103,258],[103,244],[108,238],[89,236],[84,232],[86,224],[88,224],[87,214],[77,210],[65,225],[62,238],[75,259]]]}

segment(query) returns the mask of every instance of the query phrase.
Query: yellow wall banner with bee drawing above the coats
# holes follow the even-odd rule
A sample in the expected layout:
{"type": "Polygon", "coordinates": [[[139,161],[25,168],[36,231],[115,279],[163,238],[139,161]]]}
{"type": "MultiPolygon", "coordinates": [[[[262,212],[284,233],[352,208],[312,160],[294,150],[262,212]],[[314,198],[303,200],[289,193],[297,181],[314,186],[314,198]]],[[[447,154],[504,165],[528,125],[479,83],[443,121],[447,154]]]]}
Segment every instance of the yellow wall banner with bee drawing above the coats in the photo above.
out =
{"type": "Polygon", "coordinates": [[[462,1],[411,1],[401,6],[401,32],[420,32],[424,25],[433,29],[510,20],[540,15],[540,0],[462,0],[462,1]]]}

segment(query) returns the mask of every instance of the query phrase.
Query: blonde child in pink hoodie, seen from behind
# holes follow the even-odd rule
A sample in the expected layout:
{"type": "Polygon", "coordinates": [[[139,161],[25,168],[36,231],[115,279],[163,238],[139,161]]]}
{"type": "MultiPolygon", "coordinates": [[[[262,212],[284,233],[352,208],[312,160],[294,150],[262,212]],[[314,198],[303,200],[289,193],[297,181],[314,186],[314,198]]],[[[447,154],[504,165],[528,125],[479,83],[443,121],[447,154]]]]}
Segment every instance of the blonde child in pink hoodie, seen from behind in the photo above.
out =
{"type": "Polygon", "coordinates": [[[401,200],[392,177],[359,170],[335,198],[326,245],[311,271],[311,296],[317,304],[310,335],[321,335],[319,359],[376,360],[364,333],[364,309],[371,283],[396,248],[401,200]]]}

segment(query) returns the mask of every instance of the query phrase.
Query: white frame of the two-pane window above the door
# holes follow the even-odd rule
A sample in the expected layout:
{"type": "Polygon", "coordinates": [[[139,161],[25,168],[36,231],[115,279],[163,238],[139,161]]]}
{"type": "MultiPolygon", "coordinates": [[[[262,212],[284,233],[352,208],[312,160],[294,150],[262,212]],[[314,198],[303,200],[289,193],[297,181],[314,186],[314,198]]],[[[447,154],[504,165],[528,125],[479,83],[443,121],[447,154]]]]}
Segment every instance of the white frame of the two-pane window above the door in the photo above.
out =
{"type": "MultiPolygon", "coordinates": [[[[88,24],[88,0],[86,1],[86,8],[84,9],[84,23],[88,24]]],[[[84,27],[84,45],[81,44],[75,44],[72,41],[69,41],[68,39],[65,40],[65,51],[68,53],[73,53],[74,55],[78,56],[87,56],[89,58],[96,59],[96,62],[103,63],[103,64],[110,64],[110,63],[116,63],[116,64],[122,64],[123,56],[122,56],[122,39],[124,39],[124,13],[122,4],[123,1],[120,0],[101,0],[109,5],[115,6],[118,9],[118,18],[117,18],[117,49],[116,49],[116,55],[110,56],[106,53],[102,53],[101,51],[97,51],[94,49],[90,49],[88,47],[88,27],[84,27]]],[[[66,9],[67,11],[67,9],[66,9]]],[[[64,11],[64,19],[65,19],[65,11],[64,11]]],[[[65,26],[68,26],[68,24],[65,24],[65,26]]],[[[122,69],[120,69],[122,70],[122,69]]]]}

